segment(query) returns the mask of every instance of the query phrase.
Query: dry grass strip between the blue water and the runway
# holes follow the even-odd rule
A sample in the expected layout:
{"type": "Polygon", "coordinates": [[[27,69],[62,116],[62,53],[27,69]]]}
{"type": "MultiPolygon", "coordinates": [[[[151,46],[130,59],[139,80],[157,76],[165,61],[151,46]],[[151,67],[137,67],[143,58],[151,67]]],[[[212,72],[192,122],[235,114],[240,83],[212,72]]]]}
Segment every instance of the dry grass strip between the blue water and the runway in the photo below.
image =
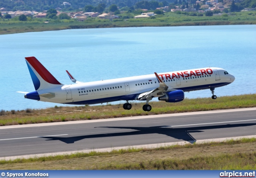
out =
{"type": "Polygon", "coordinates": [[[0,125],[16,125],[44,122],[104,119],[137,115],[156,115],[207,110],[256,107],[256,94],[224,96],[216,100],[209,98],[185,99],[178,103],[150,102],[152,110],[142,110],[143,103],[133,103],[131,110],[123,104],[101,106],[54,107],[42,110],[0,111],[0,125]]]}

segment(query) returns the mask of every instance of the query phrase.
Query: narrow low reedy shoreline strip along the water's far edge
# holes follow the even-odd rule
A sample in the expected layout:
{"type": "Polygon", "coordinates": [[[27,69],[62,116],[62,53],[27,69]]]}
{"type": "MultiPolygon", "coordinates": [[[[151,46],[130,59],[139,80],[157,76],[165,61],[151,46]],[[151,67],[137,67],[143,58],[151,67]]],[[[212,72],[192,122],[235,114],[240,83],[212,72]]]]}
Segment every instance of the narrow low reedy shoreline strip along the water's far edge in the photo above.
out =
{"type": "Polygon", "coordinates": [[[120,28],[120,27],[175,27],[175,26],[204,26],[204,25],[255,25],[256,21],[190,21],[190,22],[69,22],[69,23],[0,23],[0,35],[57,31],[65,29],[93,29],[93,28],[120,28]]]}

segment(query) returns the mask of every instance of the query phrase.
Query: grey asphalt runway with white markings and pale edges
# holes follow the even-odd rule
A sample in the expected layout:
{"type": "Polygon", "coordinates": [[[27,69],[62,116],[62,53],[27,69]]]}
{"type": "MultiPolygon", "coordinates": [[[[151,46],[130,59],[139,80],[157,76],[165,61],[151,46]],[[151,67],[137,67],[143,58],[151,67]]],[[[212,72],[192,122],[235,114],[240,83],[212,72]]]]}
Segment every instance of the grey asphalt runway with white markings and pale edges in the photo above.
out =
{"type": "Polygon", "coordinates": [[[0,127],[0,159],[256,136],[256,108],[0,127]]]}

